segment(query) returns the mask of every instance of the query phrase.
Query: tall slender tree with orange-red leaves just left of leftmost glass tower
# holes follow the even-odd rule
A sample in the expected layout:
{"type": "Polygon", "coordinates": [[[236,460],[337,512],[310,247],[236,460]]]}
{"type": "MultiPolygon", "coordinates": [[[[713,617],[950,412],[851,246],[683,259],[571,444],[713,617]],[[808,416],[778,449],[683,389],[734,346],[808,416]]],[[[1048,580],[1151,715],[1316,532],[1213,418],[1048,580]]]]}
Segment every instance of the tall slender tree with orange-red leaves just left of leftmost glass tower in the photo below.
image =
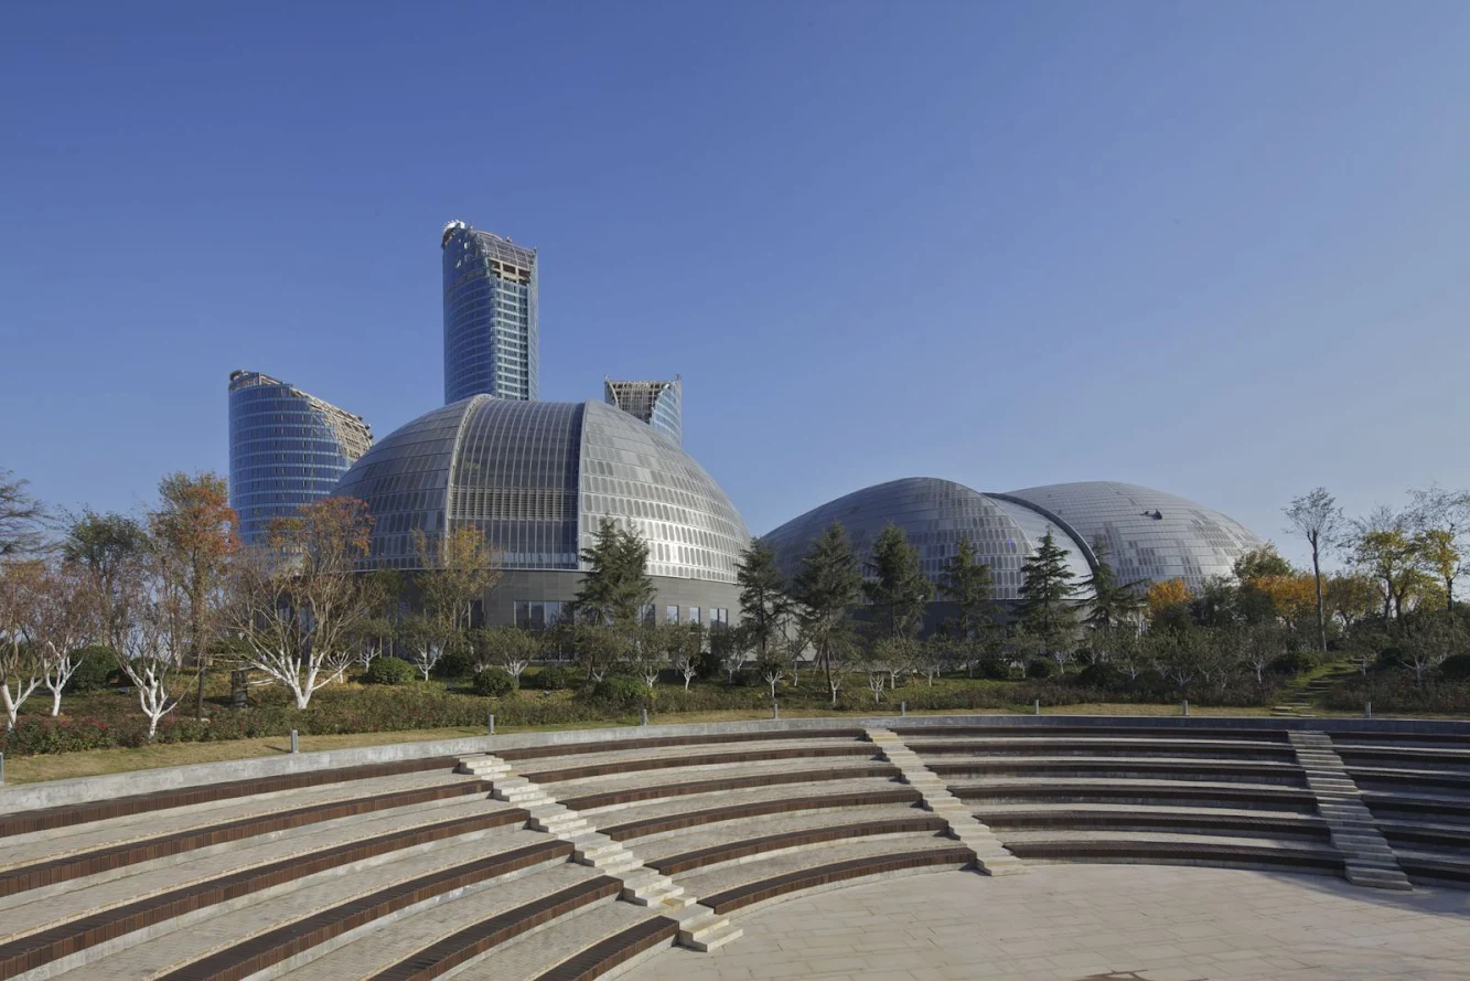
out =
{"type": "Polygon", "coordinates": [[[198,672],[196,715],[204,718],[204,671],[223,609],[225,571],[240,549],[238,518],[218,474],[171,474],[159,481],[159,509],[148,515],[159,572],[182,596],[187,663],[198,672]]]}

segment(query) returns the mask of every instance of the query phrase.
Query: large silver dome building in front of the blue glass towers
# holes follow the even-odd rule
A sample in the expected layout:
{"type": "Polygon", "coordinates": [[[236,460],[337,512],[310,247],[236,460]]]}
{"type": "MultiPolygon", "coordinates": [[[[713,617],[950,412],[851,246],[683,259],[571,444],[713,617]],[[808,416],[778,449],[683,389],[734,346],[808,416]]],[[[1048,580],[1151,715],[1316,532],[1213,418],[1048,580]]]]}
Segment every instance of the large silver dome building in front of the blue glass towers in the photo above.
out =
{"type": "Polygon", "coordinates": [[[659,621],[738,618],[750,532],[735,506],[676,441],[598,402],[456,402],[381,440],[334,493],[368,503],[378,568],[417,568],[416,529],[479,528],[504,569],[488,622],[554,622],[603,518],[648,543],[659,621]]]}

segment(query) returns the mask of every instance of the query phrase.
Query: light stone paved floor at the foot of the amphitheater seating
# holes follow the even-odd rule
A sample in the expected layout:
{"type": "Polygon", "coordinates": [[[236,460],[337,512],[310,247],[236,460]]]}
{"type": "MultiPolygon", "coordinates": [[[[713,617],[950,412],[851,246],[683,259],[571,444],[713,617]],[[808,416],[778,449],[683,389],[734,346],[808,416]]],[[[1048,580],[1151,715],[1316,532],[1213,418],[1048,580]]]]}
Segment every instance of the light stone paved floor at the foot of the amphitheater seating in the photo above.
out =
{"type": "Polygon", "coordinates": [[[916,875],[735,915],[634,981],[1470,980],[1470,893],[1238,869],[1030,865],[916,875]]]}

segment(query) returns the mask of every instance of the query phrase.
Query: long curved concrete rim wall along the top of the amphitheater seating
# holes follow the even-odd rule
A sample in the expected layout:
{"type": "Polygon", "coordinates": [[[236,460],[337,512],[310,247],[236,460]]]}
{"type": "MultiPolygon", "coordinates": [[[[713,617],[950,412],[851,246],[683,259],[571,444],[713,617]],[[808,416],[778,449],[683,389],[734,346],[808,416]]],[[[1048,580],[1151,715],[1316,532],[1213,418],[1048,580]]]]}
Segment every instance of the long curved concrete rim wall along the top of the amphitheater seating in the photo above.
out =
{"type": "Polygon", "coordinates": [[[698,722],[686,725],[650,725],[650,727],[617,727],[607,729],[567,729],[559,732],[520,732],[516,735],[479,735],[460,740],[442,740],[432,743],[397,743],[392,746],[365,746],[359,749],[325,750],[320,753],[298,753],[295,756],[269,756],[262,759],[241,759],[223,763],[197,763],[194,766],[169,766],[160,769],[146,769],[131,774],[112,774],[107,777],[78,777],[75,780],[57,780],[44,784],[24,784],[19,787],[0,787],[0,813],[16,810],[35,810],[41,807],[59,807],[66,805],[85,803],[91,800],[110,800],[132,794],[147,794],[160,790],[175,790],[179,787],[197,787],[200,784],[218,784],[234,780],[259,780],[263,777],[279,777],[282,774],[300,774],[315,769],[331,769],[340,766],[362,766],[365,763],[387,763],[404,759],[425,759],[429,756],[469,756],[472,753],[490,753],[506,749],[520,749],[526,746],[575,746],[582,743],[600,743],[613,738],[656,737],[656,735],[709,735],[714,732],[775,732],[801,729],[831,729],[831,728],[867,728],[867,727],[991,727],[991,725],[1026,725],[1026,727],[1097,727],[1114,725],[1147,727],[1164,729],[1189,728],[1239,728],[1258,729],[1316,729],[1319,732],[1339,731],[1379,731],[1379,732],[1420,732],[1433,734],[1470,734],[1470,722],[1458,721],[1427,721],[1427,719],[1313,719],[1313,718],[1277,718],[1277,716],[1097,716],[1097,715],[910,715],[897,716],[831,716],[820,719],[781,719],[757,722],[698,722]]]}

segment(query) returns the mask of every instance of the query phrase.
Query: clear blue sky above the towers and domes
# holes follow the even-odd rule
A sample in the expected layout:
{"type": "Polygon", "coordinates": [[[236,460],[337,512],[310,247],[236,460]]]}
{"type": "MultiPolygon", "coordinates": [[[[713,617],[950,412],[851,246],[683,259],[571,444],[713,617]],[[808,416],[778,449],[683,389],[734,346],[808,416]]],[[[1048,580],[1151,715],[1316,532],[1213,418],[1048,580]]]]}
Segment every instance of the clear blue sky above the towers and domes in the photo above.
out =
{"type": "MultiPolygon", "coordinates": [[[[1280,538],[1470,485],[1470,3],[12,3],[0,466],[128,509],[253,368],[441,400],[442,224],[541,391],[685,379],[753,531],[904,475],[1280,538]]],[[[1292,554],[1299,550],[1291,549],[1292,554]]]]}

